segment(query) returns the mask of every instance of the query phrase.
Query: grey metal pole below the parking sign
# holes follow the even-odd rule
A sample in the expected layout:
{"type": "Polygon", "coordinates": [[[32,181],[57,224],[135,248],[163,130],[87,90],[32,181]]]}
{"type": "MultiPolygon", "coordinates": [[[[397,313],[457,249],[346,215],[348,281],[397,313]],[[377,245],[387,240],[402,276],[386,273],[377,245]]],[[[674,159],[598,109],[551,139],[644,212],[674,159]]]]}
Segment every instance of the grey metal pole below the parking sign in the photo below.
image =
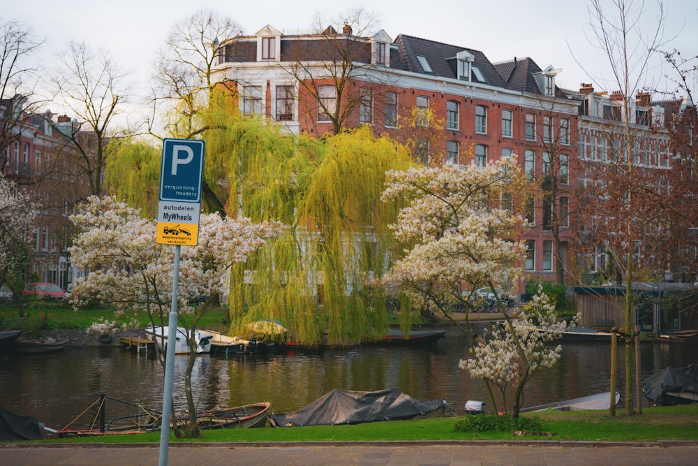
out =
{"type": "MultiPolygon", "coordinates": [[[[170,446],[170,418],[172,417],[172,385],[174,382],[174,347],[177,346],[177,288],[179,288],[179,253],[181,246],[174,247],[174,272],[172,277],[172,306],[168,323],[168,340],[165,353],[165,391],[163,393],[163,418],[160,430],[160,460],[159,466],[168,464],[168,447],[170,446]]],[[[163,335],[164,336],[164,335],[163,335]]],[[[165,340],[163,339],[163,343],[165,340]]]]}

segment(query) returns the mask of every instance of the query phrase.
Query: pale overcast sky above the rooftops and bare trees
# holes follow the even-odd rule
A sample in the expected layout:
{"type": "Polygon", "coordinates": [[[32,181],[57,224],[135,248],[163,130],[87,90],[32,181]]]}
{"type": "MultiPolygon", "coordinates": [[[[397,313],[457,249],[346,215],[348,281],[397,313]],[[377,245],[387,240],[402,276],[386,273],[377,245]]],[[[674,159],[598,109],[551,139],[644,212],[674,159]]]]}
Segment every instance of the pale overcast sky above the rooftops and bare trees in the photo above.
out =
{"type": "MultiPolygon", "coordinates": [[[[175,22],[198,9],[213,10],[237,22],[244,34],[254,34],[266,24],[281,31],[308,29],[319,14],[334,18],[350,8],[362,7],[381,29],[395,38],[407,34],[481,50],[490,61],[531,57],[541,67],[561,68],[557,84],[577,89],[593,82],[597,89],[611,73],[607,58],[597,48],[589,25],[588,0],[460,0],[430,4],[416,0],[346,2],[346,7],[318,0],[184,1],[184,0],[33,0],[6,2],[0,22],[22,20],[45,38],[42,60],[50,64],[54,53],[72,41],[85,41],[108,50],[114,61],[133,72],[145,87],[147,76],[175,22]],[[329,5],[328,5],[329,4],[329,5]],[[413,6],[414,8],[410,8],[413,6]],[[427,8],[432,8],[427,11],[427,8]],[[577,61],[581,64],[577,64],[577,61]],[[590,76],[591,75],[591,76],[590,76]]],[[[607,3],[610,3],[607,1],[607,3]]],[[[634,0],[639,6],[641,1],[634,0]]],[[[656,28],[657,1],[646,0],[645,30],[656,28]]],[[[667,15],[665,48],[684,56],[698,54],[698,2],[664,0],[667,15]]],[[[611,12],[609,5],[607,11],[611,12]]],[[[658,66],[660,66],[658,62],[658,66]]],[[[655,68],[656,78],[662,71],[655,68]]],[[[608,89],[614,90],[614,89],[608,89]]]]}

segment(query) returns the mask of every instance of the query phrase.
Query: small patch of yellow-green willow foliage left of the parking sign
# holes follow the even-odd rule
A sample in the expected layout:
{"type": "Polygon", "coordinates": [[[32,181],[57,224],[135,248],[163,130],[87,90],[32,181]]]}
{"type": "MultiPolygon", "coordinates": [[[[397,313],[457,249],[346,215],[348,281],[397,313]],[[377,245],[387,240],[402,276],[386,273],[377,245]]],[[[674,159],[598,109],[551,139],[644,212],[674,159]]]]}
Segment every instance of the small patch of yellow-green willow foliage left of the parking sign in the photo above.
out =
{"type": "Polygon", "coordinates": [[[158,214],[161,147],[138,140],[114,141],[107,146],[105,187],[108,194],[144,216],[158,214]]]}

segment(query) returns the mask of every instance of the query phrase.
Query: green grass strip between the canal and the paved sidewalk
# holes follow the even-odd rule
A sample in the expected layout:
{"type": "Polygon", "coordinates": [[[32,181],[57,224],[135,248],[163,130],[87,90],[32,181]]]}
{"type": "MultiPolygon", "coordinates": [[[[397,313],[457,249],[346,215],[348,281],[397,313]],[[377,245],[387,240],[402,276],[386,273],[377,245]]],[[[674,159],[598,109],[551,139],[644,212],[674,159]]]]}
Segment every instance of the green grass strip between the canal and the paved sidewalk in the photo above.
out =
{"type": "MultiPolygon", "coordinates": [[[[462,432],[454,430],[456,422],[463,419],[463,416],[458,416],[357,425],[205,430],[200,439],[176,439],[171,434],[170,442],[698,441],[698,405],[645,408],[643,414],[629,418],[618,412],[616,417],[611,418],[607,411],[548,411],[522,416],[539,418],[542,430],[523,432],[523,435],[517,435],[512,431],[462,432]]],[[[34,442],[158,443],[160,432],[44,439],[34,442]]]]}

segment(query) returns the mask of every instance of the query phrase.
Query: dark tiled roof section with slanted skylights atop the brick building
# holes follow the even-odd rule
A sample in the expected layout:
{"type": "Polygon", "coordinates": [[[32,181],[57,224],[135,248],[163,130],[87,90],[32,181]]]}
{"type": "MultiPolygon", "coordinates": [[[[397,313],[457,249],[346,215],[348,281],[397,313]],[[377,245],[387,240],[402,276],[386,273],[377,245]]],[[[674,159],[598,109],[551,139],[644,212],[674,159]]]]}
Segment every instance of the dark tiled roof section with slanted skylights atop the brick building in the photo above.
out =
{"type": "Polygon", "coordinates": [[[405,34],[397,36],[394,43],[399,46],[399,56],[403,64],[403,69],[406,71],[457,79],[456,54],[465,50],[475,57],[473,66],[477,66],[487,84],[496,87],[509,87],[480,50],[427,41],[426,39],[406,36],[405,34]],[[417,61],[417,55],[422,55],[422,57],[426,58],[433,73],[426,73],[424,71],[422,65],[417,61]]]}

